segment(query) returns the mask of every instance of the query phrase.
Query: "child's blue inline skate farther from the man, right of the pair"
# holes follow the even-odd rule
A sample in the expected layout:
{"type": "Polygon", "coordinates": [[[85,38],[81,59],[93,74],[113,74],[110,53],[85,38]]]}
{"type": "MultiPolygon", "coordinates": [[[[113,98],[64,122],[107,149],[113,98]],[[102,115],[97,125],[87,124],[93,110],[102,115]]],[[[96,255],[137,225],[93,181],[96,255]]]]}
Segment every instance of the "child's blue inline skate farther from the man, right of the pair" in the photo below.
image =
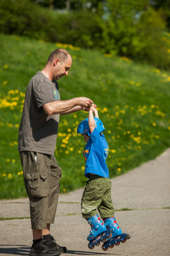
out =
{"type": "Polygon", "coordinates": [[[113,248],[114,245],[120,245],[120,242],[126,242],[126,240],[130,239],[130,235],[127,233],[122,233],[122,230],[119,228],[118,223],[114,217],[111,218],[103,218],[106,228],[111,230],[111,237],[106,238],[104,240],[102,249],[108,250],[108,247],[113,248]]]}

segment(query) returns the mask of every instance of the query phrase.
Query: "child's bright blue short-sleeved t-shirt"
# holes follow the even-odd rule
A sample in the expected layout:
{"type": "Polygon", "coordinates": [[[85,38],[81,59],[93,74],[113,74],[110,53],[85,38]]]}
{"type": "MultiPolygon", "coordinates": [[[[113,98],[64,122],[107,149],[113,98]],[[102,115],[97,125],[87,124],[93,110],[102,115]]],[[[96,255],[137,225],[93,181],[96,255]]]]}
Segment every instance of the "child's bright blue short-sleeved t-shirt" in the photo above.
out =
{"type": "Polygon", "coordinates": [[[101,135],[95,127],[90,135],[89,142],[87,142],[84,148],[84,159],[86,161],[84,176],[89,178],[90,174],[96,174],[108,178],[109,171],[106,165],[107,156],[108,143],[106,142],[104,134],[101,135]]]}

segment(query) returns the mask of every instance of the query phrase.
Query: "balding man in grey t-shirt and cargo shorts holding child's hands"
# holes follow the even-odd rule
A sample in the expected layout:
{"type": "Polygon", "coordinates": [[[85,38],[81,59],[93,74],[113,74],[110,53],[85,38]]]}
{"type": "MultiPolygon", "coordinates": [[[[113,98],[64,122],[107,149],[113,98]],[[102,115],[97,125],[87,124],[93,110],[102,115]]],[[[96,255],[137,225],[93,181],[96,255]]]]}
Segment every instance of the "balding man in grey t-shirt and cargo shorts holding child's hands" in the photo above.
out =
{"type": "Polygon", "coordinates": [[[60,255],[65,247],[50,235],[59,196],[61,169],[55,159],[60,114],[87,110],[93,103],[87,97],[60,100],[57,80],[68,75],[72,57],[67,50],[54,50],[45,68],[30,80],[18,134],[18,150],[23,178],[30,200],[33,245],[30,256],[60,255]]]}

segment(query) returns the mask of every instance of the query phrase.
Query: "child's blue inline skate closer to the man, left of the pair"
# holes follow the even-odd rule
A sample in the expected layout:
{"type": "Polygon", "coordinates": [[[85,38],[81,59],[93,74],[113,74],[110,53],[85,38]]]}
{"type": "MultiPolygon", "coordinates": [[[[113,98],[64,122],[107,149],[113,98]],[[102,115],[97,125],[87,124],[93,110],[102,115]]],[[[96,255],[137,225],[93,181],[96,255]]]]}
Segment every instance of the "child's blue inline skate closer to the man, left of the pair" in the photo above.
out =
{"type": "Polygon", "coordinates": [[[111,237],[111,230],[107,230],[106,225],[99,218],[98,214],[93,217],[86,218],[86,220],[91,225],[90,235],[87,240],[89,241],[89,249],[94,249],[94,246],[100,245],[107,238],[111,237]]]}

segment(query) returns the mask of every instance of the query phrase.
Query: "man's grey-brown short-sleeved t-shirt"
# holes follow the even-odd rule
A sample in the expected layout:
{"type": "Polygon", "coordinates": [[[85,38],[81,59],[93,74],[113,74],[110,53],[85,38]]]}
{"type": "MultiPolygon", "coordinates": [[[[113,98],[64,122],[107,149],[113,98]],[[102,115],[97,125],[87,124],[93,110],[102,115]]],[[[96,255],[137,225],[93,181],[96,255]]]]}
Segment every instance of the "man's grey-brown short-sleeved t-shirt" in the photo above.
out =
{"type": "Polygon", "coordinates": [[[50,81],[40,71],[30,80],[18,134],[19,151],[54,154],[60,114],[48,115],[45,103],[60,100],[57,81],[50,81]]]}

